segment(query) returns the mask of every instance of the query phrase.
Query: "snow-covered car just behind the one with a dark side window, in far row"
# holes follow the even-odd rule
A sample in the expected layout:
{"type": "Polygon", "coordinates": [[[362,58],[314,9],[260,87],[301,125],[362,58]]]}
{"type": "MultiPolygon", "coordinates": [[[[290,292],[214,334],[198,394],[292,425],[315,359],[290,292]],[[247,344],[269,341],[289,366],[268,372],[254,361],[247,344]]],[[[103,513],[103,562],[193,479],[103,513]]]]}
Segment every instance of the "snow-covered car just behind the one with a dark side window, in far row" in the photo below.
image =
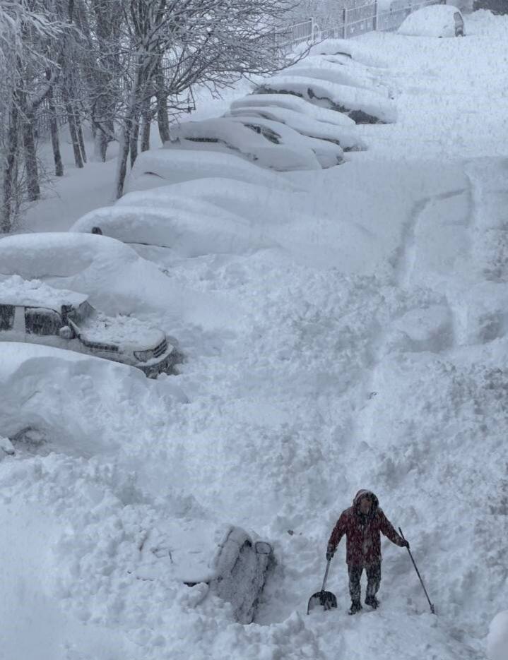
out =
{"type": "Polygon", "coordinates": [[[293,128],[294,131],[297,131],[302,136],[317,138],[318,140],[328,140],[333,144],[339,145],[343,151],[365,150],[365,143],[355,133],[354,126],[351,128],[336,126],[330,124],[328,121],[314,119],[314,117],[303,112],[297,112],[295,109],[280,107],[275,103],[271,104],[273,96],[279,95],[261,94],[253,95],[252,97],[247,96],[244,99],[233,102],[228,114],[233,117],[254,116],[278,121],[280,124],[285,124],[285,126],[293,128]],[[251,103],[251,99],[254,96],[256,98],[251,103]]]}

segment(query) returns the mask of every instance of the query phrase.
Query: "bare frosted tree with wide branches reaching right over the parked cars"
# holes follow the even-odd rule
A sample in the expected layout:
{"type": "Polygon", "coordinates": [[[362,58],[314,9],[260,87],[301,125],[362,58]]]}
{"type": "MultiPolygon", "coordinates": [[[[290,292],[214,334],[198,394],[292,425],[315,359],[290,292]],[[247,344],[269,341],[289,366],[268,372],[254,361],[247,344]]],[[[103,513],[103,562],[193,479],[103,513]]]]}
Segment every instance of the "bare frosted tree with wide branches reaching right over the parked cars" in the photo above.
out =
{"type": "Polygon", "coordinates": [[[116,193],[122,196],[127,160],[134,162],[141,114],[153,100],[161,136],[168,136],[167,107],[182,109],[182,95],[194,85],[217,91],[242,76],[288,66],[266,38],[292,0],[125,0],[124,40],[130,52],[116,193]],[[169,103],[168,103],[169,100],[169,103]]]}

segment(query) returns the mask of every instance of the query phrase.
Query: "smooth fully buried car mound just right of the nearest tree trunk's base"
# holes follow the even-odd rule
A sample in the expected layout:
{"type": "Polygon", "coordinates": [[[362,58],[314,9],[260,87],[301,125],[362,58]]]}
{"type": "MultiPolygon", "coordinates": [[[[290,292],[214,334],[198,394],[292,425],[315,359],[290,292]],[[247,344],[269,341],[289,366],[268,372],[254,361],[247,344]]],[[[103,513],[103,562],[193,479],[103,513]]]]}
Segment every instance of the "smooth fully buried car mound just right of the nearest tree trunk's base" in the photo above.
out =
{"type": "Polygon", "coordinates": [[[291,188],[282,176],[275,172],[265,172],[237,155],[202,152],[199,158],[196,158],[196,154],[189,150],[160,149],[138,155],[126,181],[125,191],[157,188],[179,181],[204,179],[207,176],[247,181],[279,190],[291,188]]]}

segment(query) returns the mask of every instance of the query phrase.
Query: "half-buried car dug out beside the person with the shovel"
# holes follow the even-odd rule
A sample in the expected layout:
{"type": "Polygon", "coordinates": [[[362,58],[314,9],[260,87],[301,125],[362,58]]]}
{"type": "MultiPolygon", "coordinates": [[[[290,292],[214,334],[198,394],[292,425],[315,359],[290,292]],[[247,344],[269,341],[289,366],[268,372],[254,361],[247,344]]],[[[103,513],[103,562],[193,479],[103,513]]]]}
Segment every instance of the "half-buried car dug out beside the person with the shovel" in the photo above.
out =
{"type": "Polygon", "coordinates": [[[255,534],[188,519],[168,519],[150,529],[140,554],[134,570],[140,580],[184,582],[196,590],[198,602],[219,596],[232,605],[239,623],[252,623],[274,561],[271,544],[255,534]]]}

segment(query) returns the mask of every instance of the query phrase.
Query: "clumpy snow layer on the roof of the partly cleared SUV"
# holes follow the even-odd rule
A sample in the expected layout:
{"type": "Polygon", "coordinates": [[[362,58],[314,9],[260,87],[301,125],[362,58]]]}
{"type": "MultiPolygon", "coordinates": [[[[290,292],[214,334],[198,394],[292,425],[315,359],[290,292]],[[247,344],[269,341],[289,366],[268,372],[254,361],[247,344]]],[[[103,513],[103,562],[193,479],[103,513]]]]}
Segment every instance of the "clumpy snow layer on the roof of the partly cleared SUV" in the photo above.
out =
{"type": "Polygon", "coordinates": [[[62,305],[81,305],[88,296],[67,289],[54,289],[40,280],[13,275],[0,282],[0,304],[47,307],[60,311],[62,305]]]}

